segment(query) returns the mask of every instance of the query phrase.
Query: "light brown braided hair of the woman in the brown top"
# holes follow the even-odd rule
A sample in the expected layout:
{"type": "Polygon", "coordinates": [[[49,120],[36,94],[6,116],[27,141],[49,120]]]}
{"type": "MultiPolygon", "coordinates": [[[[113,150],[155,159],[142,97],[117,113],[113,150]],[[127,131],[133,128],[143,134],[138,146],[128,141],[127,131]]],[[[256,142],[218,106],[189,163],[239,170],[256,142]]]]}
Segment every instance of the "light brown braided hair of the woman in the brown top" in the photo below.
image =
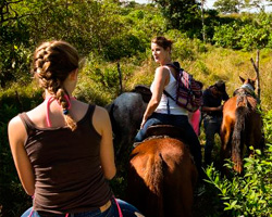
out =
{"type": "Polygon", "coordinates": [[[78,68],[79,56],[74,47],[65,41],[41,43],[34,52],[32,73],[40,86],[54,97],[63,110],[66,125],[76,129],[76,122],[69,113],[70,95],[63,87],[70,73],[78,68]]]}

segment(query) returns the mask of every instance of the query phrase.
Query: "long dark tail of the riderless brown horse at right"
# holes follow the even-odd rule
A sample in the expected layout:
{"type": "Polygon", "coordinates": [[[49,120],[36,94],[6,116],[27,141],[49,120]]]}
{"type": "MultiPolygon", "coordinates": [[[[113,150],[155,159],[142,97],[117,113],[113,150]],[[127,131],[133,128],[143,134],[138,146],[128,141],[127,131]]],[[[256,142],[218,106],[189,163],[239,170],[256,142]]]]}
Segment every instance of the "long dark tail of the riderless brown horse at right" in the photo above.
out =
{"type": "Polygon", "coordinates": [[[248,102],[246,95],[238,95],[236,101],[236,111],[235,118],[236,122],[234,124],[233,130],[233,139],[232,139],[232,159],[234,162],[234,169],[238,173],[242,173],[243,162],[242,162],[242,153],[243,153],[243,144],[244,144],[244,131],[245,131],[245,122],[246,116],[249,112],[248,102]]]}

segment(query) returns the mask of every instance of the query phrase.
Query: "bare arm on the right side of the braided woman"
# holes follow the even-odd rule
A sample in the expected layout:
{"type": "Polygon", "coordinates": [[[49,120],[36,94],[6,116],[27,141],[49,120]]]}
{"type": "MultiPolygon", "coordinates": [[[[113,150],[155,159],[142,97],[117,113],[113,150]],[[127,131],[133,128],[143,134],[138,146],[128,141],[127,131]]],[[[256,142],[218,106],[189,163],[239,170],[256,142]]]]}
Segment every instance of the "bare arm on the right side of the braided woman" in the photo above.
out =
{"type": "Polygon", "coordinates": [[[108,112],[103,107],[96,106],[92,124],[102,137],[100,143],[100,161],[104,177],[110,180],[115,176],[116,167],[114,163],[111,122],[108,112]]]}

